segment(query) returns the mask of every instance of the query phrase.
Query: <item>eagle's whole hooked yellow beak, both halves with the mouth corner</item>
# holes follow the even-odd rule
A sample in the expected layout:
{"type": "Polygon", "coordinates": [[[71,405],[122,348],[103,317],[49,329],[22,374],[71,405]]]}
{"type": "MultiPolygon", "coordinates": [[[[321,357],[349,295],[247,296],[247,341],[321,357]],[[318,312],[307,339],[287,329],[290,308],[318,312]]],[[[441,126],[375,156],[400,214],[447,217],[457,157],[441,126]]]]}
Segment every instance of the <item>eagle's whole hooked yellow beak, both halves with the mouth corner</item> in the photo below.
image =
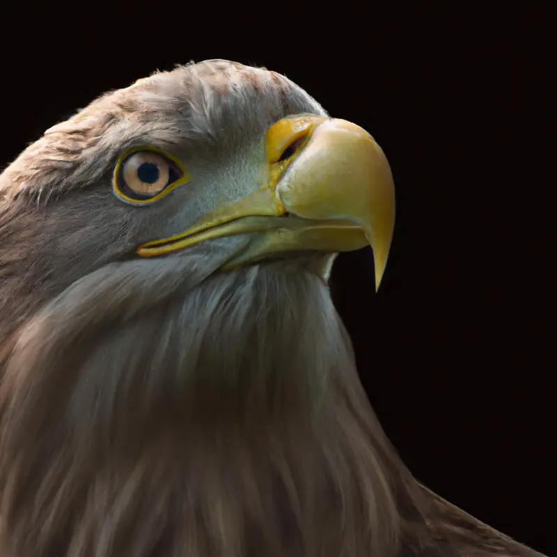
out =
{"type": "Polygon", "coordinates": [[[370,244],[379,288],[393,237],[395,192],[389,163],[372,136],[346,120],[299,116],[279,120],[265,139],[264,187],[136,253],[157,256],[213,237],[257,232],[246,251],[227,262],[230,268],[279,251],[336,253],[370,244]],[[283,156],[289,148],[292,155],[283,156]]]}

